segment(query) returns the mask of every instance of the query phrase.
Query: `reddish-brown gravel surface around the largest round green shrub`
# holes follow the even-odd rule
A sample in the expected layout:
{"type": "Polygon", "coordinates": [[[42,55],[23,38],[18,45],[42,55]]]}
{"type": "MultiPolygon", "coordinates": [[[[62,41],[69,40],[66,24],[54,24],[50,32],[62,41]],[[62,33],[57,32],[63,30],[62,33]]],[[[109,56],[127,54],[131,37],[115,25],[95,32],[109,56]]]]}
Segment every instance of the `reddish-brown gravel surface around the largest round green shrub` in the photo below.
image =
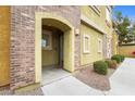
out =
{"type": "Polygon", "coordinates": [[[115,70],[109,68],[108,75],[99,75],[94,72],[93,67],[82,68],[75,73],[75,77],[86,85],[102,90],[110,90],[109,77],[113,74],[115,70]]]}

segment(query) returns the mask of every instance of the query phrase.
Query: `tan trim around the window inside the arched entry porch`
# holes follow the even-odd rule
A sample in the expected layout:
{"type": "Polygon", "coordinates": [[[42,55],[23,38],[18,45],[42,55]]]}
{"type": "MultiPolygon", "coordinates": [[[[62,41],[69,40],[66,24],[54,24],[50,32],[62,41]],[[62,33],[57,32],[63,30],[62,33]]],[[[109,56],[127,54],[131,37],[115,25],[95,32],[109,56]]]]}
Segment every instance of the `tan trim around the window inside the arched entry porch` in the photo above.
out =
{"type": "Polygon", "coordinates": [[[42,34],[49,35],[49,43],[50,45],[48,47],[46,47],[46,48],[41,46],[41,48],[44,50],[52,50],[52,31],[42,29],[42,34]]]}

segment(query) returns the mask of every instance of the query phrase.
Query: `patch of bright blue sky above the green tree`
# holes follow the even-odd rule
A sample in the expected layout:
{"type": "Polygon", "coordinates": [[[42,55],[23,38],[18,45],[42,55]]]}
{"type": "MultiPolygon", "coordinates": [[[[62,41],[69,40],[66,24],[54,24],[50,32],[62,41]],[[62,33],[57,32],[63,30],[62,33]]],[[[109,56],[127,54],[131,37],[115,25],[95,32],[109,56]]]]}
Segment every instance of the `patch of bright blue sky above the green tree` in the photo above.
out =
{"type": "Polygon", "coordinates": [[[115,5],[113,9],[113,18],[116,11],[121,11],[123,16],[128,16],[132,21],[135,21],[135,5],[115,5]]]}

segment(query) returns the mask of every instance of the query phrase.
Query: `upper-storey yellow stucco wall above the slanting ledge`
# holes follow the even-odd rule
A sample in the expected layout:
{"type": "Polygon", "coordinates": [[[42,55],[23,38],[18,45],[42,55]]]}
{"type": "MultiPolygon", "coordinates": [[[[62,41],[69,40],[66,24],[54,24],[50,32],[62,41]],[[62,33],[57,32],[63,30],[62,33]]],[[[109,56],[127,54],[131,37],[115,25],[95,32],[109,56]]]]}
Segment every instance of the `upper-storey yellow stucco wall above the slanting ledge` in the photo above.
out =
{"type": "MultiPolygon", "coordinates": [[[[88,17],[90,21],[93,21],[95,24],[100,26],[103,30],[107,31],[108,35],[112,34],[112,22],[110,21],[110,27],[106,23],[106,5],[100,5],[100,14],[97,14],[93,9],[91,5],[83,5],[81,7],[81,12],[83,15],[88,17]]],[[[111,15],[110,15],[111,17],[111,15]]]]}

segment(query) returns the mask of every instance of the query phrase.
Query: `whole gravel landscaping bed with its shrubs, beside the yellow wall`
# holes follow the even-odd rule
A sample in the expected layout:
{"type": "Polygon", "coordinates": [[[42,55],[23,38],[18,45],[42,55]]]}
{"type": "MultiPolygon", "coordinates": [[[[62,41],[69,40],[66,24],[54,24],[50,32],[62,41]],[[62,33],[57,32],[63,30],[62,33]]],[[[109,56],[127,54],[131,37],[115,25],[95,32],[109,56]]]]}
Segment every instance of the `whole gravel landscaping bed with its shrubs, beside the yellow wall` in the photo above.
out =
{"type": "Polygon", "coordinates": [[[110,90],[109,77],[123,61],[123,55],[115,54],[111,59],[94,62],[91,66],[79,70],[74,76],[93,88],[108,91],[110,90]]]}

